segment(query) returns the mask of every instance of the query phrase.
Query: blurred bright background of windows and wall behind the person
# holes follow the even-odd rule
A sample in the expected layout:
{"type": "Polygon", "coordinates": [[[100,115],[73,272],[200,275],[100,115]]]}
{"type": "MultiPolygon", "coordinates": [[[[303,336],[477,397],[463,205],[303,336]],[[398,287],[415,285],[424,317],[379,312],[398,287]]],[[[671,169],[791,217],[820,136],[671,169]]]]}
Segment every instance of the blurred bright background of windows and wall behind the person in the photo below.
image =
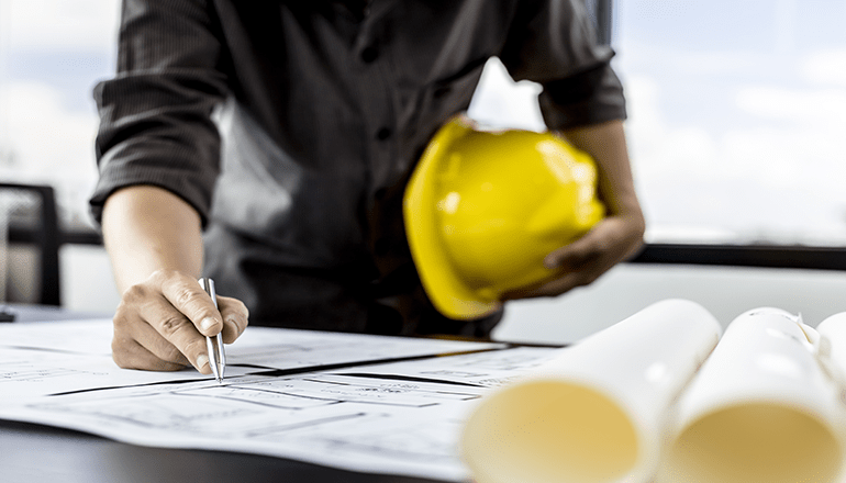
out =
{"type": "MultiPolygon", "coordinates": [[[[846,311],[846,0],[587,7],[617,53],[648,245],[589,288],[512,304],[499,335],[569,341],[671,296],[723,323],[761,305],[814,325],[846,311]]],[[[91,90],[113,75],[119,15],[119,0],[0,0],[0,182],[54,188],[59,303],[104,314],[119,296],[87,206],[91,90]]],[[[491,60],[470,115],[541,130],[537,92],[491,60]]],[[[0,294],[32,299],[37,257],[4,231],[0,294]]]]}

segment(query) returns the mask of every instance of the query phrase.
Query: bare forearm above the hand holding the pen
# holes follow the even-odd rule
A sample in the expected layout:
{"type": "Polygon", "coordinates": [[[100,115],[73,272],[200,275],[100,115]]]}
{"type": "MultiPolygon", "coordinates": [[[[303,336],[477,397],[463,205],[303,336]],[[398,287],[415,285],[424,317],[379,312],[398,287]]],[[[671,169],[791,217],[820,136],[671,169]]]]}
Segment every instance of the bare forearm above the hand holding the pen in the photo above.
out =
{"type": "Polygon", "coordinates": [[[116,191],[103,207],[102,229],[121,293],[157,270],[200,276],[200,216],[169,191],[148,186],[116,191]]]}

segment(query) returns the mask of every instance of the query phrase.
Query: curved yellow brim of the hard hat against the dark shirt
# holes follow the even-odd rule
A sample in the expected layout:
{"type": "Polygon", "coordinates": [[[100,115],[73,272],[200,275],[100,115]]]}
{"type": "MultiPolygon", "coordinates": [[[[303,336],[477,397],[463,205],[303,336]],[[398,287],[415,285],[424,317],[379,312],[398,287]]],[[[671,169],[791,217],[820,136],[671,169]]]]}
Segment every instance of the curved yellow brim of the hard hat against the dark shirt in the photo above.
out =
{"type": "Polygon", "coordinates": [[[489,300],[468,287],[443,245],[441,223],[434,206],[438,203],[437,173],[449,146],[471,127],[460,119],[446,123],[426,147],[405,187],[403,216],[405,233],[423,289],[443,315],[454,319],[479,318],[499,311],[502,302],[489,300]]]}

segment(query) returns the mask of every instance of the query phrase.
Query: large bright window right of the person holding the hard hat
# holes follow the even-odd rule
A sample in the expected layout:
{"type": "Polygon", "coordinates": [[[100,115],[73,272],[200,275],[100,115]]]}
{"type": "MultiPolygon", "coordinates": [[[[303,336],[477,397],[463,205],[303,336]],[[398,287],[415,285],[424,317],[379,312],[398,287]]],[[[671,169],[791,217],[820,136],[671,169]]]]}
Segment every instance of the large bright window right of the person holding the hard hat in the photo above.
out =
{"type": "MultiPolygon", "coordinates": [[[[613,26],[647,242],[846,245],[846,1],[625,0],[613,26]]],[[[487,120],[514,102],[490,67],[487,120]]]]}

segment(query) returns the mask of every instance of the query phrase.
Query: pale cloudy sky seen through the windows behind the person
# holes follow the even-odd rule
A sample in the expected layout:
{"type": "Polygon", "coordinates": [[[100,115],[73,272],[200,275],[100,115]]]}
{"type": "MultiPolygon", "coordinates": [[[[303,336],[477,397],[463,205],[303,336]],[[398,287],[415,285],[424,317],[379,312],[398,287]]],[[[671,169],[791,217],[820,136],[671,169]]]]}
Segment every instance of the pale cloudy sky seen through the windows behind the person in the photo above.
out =
{"type": "MultiPolygon", "coordinates": [[[[0,177],[90,223],[118,0],[0,0],[0,177]]],[[[613,66],[653,242],[846,245],[846,0],[617,0],[613,66]]],[[[491,61],[470,114],[542,128],[491,61]]]]}

